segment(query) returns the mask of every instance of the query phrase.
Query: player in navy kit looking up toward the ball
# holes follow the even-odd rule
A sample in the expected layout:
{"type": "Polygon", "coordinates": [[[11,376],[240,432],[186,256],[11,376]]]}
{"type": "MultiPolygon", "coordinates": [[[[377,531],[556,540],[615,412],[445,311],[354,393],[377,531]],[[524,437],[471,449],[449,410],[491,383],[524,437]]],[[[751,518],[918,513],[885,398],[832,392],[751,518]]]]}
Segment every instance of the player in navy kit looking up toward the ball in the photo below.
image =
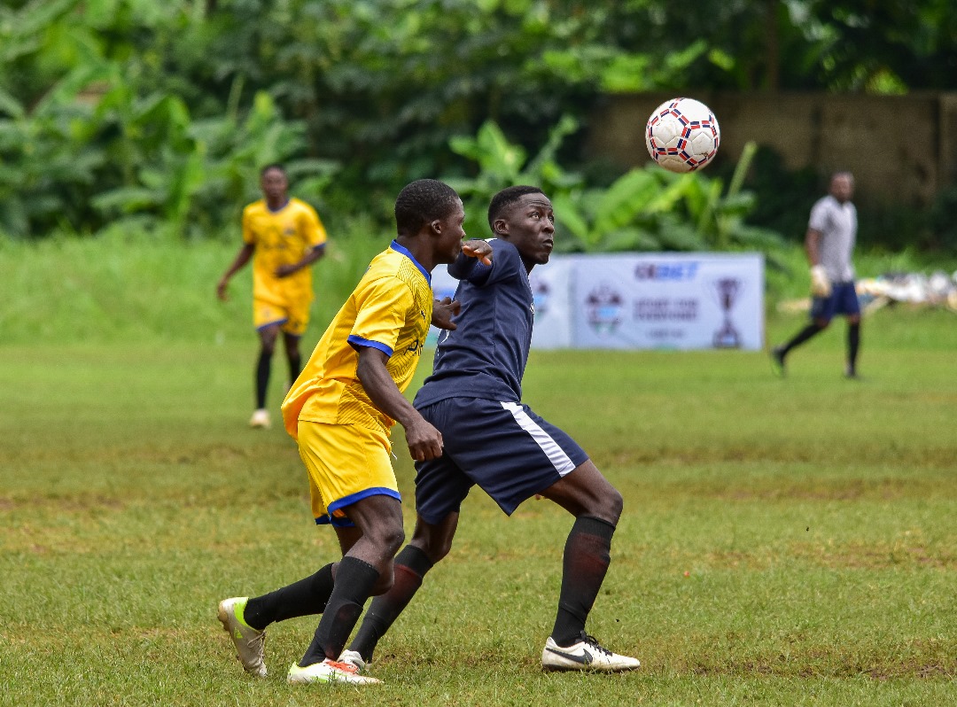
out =
{"type": "Polygon", "coordinates": [[[610,563],[622,498],[564,431],[522,403],[522,377],[532,338],[534,303],[528,273],[554,247],[551,202],[535,187],[511,187],[492,198],[491,265],[458,257],[454,330],[441,333],[434,372],[414,407],[440,431],[443,453],[415,463],[417,519],[412,541],[395,559],[389,592],[368,608],[340,660],[360,670],[422,579],[444,558],[456,534],[461,502],[478,485],[506,514],[542,496],[575,521],[565,543],[562,588],[545,670],[625,671],[636,659],[613,653],[585,630],[610,563]]]}

